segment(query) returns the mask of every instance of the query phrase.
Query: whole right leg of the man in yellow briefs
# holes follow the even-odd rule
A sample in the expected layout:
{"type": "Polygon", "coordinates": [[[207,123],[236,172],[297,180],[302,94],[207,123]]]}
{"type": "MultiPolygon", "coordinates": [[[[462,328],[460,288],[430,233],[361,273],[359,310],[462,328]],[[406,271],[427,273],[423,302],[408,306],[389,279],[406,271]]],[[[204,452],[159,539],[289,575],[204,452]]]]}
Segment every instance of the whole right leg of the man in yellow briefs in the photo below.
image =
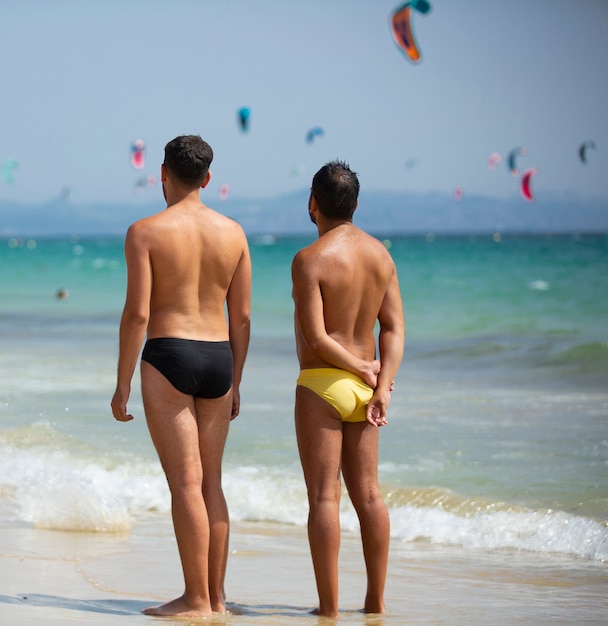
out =
{"type": "Polygon", "coordinates": [[[345,423],[342,472],[359,516],[367,569],[364,611],[384,613],[390,519],[378,485],[378,429],[367,422],[345,423]]]}

